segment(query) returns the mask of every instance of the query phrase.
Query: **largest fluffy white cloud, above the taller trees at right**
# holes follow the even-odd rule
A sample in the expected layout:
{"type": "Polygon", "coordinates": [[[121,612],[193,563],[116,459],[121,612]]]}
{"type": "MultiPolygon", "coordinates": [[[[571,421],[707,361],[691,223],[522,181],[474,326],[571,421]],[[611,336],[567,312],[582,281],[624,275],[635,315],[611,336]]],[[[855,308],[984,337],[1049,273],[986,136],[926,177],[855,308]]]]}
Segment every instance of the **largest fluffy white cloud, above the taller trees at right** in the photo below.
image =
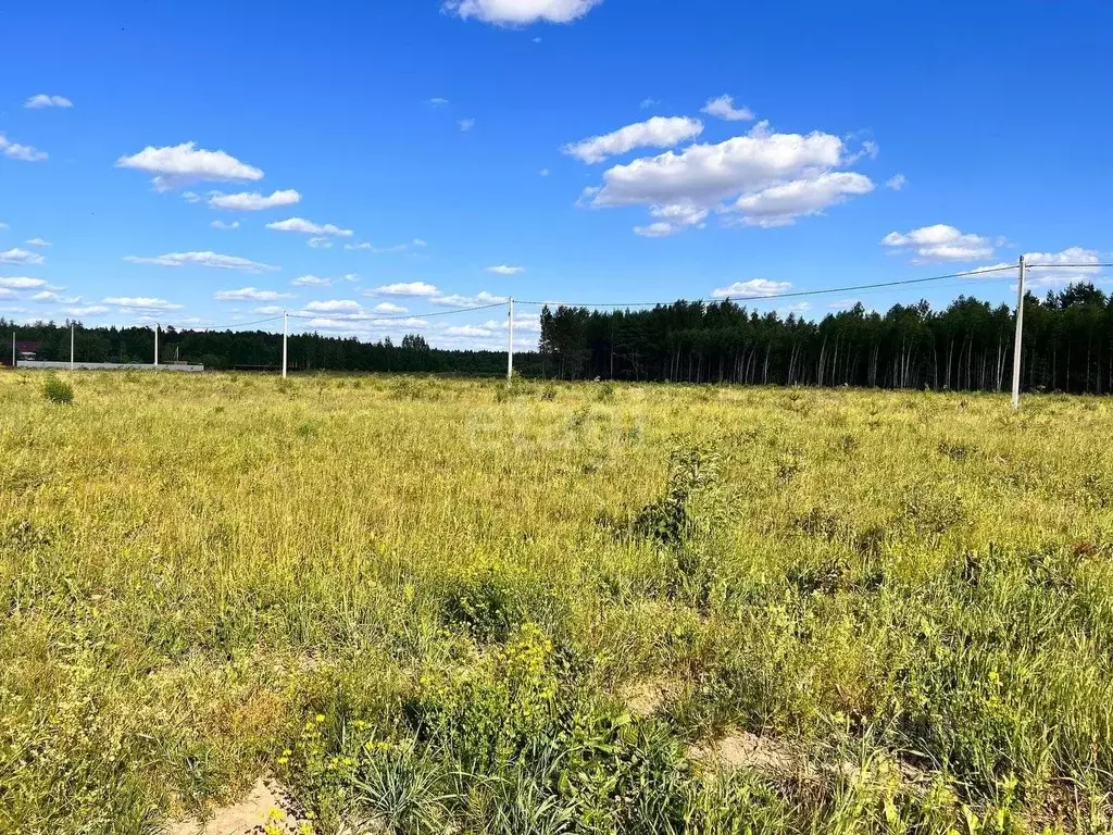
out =
{"type": "Polygon", "coordinates": [[[649,206],[654,223],[636,232],[651,237],[699,226],[711,209],[730,223],[786,226],[873,190],[865,175],[839,170],[851,156],[837,136],[778,134],[760,122],[722,143],[613,166],[602,186],[584,191],[582,204],[649,206]]]}

